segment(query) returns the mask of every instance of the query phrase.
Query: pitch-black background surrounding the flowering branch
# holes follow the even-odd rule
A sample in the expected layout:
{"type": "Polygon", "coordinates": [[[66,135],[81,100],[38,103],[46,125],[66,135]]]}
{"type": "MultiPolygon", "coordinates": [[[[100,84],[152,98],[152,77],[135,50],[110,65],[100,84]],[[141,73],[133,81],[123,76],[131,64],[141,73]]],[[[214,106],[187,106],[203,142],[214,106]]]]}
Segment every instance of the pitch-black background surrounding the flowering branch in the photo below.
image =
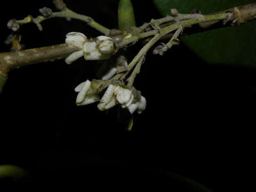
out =
{"type": "MultiPolygon", "coordinates": [[[[137,26],[161,17],[151,1],[145,9],[145,2],[133,3],[137,26]]],[[[108,28],[118,27],[118,1],[66,4],[108,28]]],[[[12,33],[7,21],[28,14],[36,17],[44,6],[55,10],[51,1],[6,2],[8,12],[1,12],[1,52],[10,50],[4,44],[12,33]]],[[[63,43],[70,31],[100,35],[77,20],[54,18],[42,25],[42,32],[33,23],[21,26],[18,34],[26,49],[63,43]]],[[[127,51],[134,57],[141,47],[139,42],[127,51]]],[[[1,164],[30,171],[33,183],[64,187],[121,183],[123,188],[140,184],[185,190],[167,172],[215,191],[250,182],[254,68],[205,63],[182,42],[162,57],[148,52],[135,79],[147,107],[134,115],[133,129],[127,132],[117,121],[117,107],[102,112],[95,103],[75,105],[74,88],[95,78],[94,66],[95,61],[81,59],[67,65],[59,60],[10,72],[0,95],[1,164]]],[[[13,185],[10,180],[6,183],[13,185]]]]}

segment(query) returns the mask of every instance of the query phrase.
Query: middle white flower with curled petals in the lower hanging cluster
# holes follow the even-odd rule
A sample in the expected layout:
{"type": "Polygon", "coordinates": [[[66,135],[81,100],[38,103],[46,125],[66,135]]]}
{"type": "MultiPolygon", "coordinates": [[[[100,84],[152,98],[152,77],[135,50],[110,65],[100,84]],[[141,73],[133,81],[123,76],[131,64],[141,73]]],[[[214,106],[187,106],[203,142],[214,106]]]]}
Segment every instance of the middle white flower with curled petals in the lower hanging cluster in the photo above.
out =
{"type": "Polygon", "coordinates": [[[100,110],[106,110],[117,104],[121,104],[121,106],[125,108],[127,107],[127,104],[130,105],[132,103],[133,98],[134,96],[132,95],[131,90],[124,89],[119,85],[110,84],[101,98],[98,108],[100,110]]]}

